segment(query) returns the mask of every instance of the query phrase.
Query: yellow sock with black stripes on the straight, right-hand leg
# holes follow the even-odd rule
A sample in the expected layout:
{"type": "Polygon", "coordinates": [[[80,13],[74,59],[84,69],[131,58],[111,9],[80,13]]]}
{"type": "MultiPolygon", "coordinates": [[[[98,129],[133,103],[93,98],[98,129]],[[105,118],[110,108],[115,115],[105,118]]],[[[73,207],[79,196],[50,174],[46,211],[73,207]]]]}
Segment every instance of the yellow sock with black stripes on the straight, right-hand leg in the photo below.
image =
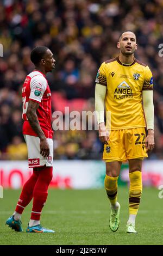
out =
{"type": "Polygon", "coordinates": [[[129,188],[129,214],[137,214],[140,204],[142,192],[142,177],[141,172],[136,170],[129,173],[130,188],[129,188]]]}

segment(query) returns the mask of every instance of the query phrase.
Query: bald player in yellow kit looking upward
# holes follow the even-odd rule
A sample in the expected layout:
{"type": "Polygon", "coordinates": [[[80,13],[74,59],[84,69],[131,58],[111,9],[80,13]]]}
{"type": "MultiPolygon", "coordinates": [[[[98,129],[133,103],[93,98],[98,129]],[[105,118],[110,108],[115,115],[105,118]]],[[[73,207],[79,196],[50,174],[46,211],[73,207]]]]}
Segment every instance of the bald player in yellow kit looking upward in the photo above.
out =
{"type": "Polygon", "coordinates": [[[133,32],[123,32],[117,47],[120,49],[119,56],[103,62],[97,72],[95,108],[99,139],[104,143],[104,185],[111,204],[109,227],[116,231],[120,224],[117,180],[122,161],[128,160],[130,188],[127,233],[137,233],[135,218],[142,192],[142,160],[154,148],[153,77],[149,67],[134,57],[137,44],[133,32]]]}

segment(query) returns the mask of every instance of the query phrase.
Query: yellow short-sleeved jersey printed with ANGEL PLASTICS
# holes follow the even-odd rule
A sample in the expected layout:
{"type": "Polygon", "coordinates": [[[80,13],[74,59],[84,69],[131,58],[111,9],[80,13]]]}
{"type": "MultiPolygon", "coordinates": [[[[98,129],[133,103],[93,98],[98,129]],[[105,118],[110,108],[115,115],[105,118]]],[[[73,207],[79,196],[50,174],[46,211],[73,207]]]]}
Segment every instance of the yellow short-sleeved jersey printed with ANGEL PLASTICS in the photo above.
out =
{"type": "Polygon", "coordinates": [[[137,59],[130,65],[121,63],[119,57],[110,59],[100,66],[95,82],[107,87],[105,110],[111,113],[111,130],[146,126],[142,90],[153,90],[147,65],[137,59]]]}

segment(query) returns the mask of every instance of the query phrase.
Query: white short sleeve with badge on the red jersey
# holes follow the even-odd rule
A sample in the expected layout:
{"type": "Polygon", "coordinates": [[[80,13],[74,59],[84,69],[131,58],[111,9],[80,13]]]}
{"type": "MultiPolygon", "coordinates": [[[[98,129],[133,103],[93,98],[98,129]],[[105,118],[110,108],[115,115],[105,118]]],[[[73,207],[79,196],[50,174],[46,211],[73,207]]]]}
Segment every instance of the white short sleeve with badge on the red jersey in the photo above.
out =
{"type": "Polygon", "coordinates": [[[38,75],[34,76],[30,81],[30,95],[29,100],[41,102],[42,96],[47,88],[47,81],[45,77],[38,75]]]}

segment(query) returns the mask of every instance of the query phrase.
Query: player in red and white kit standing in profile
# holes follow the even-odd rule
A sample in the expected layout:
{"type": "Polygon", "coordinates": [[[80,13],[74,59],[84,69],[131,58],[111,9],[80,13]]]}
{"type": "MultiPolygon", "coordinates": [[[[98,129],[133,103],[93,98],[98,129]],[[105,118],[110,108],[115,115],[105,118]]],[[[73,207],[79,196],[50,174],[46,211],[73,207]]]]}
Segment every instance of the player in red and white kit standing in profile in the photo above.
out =
{"type": "Polygon", "coordinates": [[[54,233],[43,228],[40,216],[45,205],[48,186],[53,175],[53,131],[51,111],[51,90],[46,74],[55,66],[53,53],[47,47],[35,47],[30,59],[35,69],[26,77],[22,88],[23,135],[28,148],[28,166],[33,174],[24,184],[14,214],[6,224],[15,231],[22,231],[21,215],[33,198],[33,208],[27,232],[54,233]]]}

